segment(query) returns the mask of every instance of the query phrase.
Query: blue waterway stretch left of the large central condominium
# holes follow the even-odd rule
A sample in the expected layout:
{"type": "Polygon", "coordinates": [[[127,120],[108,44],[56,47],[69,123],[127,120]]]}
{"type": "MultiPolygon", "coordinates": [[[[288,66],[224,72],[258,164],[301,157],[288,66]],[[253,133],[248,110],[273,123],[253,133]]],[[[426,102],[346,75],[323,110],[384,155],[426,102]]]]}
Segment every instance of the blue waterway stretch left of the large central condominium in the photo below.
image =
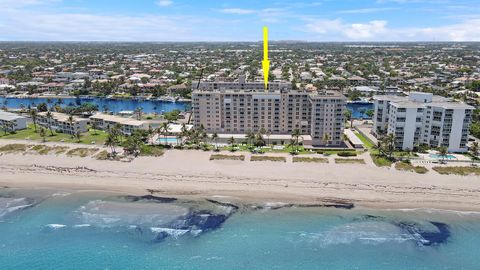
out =
{"type": "Polygon", "coordinates": [[[0,97],[0,106],[18,109],[28,106],[36,106],[40,103],[47,103],[52,106],[79,106],[83,103],[93,103],[98,106],[100,111],[108,110],[114,113],[120,111],[133,111],[137,108],[143,108],[144,113],[163,113],[173,110],[185,111],[190,107],[190,103],[185,102],[165,102],[158,100],[120,100],[106,98],[4,98],[0,97]]]}

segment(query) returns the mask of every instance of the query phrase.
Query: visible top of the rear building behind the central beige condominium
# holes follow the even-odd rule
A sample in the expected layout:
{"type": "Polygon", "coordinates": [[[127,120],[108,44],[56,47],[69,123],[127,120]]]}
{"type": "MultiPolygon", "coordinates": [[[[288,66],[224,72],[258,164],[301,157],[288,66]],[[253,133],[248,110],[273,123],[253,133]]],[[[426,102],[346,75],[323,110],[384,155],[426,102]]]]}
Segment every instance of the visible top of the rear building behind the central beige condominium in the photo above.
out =
{"type": "MultiPolygon", "coordinates": [[[[240,75],[236,82],[206,82],[193,81],[193,90],[265,90],[263,81],[247,82],[245,75],[240,75]]],[[[268,83],[269,90],[291,90],[292,84],[289,82],[274,81],[268,83]]]]}

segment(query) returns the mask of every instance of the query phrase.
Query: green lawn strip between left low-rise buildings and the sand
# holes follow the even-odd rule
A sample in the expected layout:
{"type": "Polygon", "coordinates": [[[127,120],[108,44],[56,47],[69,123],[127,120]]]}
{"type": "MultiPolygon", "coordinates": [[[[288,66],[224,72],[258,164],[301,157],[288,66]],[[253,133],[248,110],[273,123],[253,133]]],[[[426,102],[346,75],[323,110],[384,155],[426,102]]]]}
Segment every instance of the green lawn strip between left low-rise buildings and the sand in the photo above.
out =
{"type": "MultiPolygon", "coordinates": [[[[38,126],[37,126],[38,129],[38,126]]],[[[53,132],[53,136],[50,133],[50,130],[46,130],[46,140],[47,142],[69,142],[69,143],[81,143],[81,144],[94,144],[103,145],[107,138],[107,133],[101,130],[97,130],[96,132],[93,129],[90,131],[82,133],[80,136],[80,141],[77,138],[72,138],[70,134],[58,133],[53,132]]],[[[33,140],[33,141],[42,141],[42,137],[40,133],[35,129],[32,125],[29,125],[27,129],[19,130],[14,134],[7,134],[1,133],[0,139],[22,139],[22,140],[33,140]]]]}

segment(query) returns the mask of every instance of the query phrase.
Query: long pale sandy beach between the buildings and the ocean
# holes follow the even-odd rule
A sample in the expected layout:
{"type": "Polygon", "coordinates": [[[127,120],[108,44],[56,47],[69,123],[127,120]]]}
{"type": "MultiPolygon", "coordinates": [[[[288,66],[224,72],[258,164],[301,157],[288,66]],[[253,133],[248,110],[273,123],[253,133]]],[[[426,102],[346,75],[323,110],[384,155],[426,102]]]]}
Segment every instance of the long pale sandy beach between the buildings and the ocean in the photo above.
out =
{"type": "MultiPolygon", "coordinates": [[[[12,143],[0,140],[0,145],[12,143]]],[[[78,146],[77,146],[78,147],[78,146]]],[[[252,202],[351,202],[379,208],[480,211],[478,176],[419,175],[367,164],[210,161],[211,152],[170,150],[132,162],[65,155],[1,154],[0,185],[222,197],[252,202]]],[[[227,153],[226,153],[227,154],[227,153]]],[[[238,154],[238,153],[237,153],[238,154]]],[[[247,158],[250,154],[244,153],[247,158]]],[[[428,166],[427,166],[428,167],[428,166]]]]}

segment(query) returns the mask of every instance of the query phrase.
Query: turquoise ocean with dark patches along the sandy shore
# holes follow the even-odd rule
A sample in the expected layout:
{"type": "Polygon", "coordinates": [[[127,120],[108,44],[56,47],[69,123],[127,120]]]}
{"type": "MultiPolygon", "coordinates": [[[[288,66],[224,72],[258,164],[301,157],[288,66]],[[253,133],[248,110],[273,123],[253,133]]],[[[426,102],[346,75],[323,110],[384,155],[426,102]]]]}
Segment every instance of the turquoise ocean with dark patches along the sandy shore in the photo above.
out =
{"type": "Polygon", "coordinates": [[[476,213],[0,196],[1,269],[480,269],[476,213]]]}

